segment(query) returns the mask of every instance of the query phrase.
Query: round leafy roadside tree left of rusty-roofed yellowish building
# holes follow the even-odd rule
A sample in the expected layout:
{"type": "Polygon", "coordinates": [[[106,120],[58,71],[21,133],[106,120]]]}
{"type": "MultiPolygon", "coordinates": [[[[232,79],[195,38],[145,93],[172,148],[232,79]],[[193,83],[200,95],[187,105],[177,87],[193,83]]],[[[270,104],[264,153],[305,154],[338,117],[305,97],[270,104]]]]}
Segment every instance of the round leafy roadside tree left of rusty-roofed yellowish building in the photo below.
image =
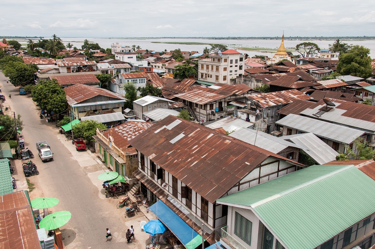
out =
{"type": "Polygon", "coordinates": [[[66,94],[56,79],[40,80],[31,90],[31,97],[40,109],[48,113],[62,113],[66,110],[66,94]]]}

